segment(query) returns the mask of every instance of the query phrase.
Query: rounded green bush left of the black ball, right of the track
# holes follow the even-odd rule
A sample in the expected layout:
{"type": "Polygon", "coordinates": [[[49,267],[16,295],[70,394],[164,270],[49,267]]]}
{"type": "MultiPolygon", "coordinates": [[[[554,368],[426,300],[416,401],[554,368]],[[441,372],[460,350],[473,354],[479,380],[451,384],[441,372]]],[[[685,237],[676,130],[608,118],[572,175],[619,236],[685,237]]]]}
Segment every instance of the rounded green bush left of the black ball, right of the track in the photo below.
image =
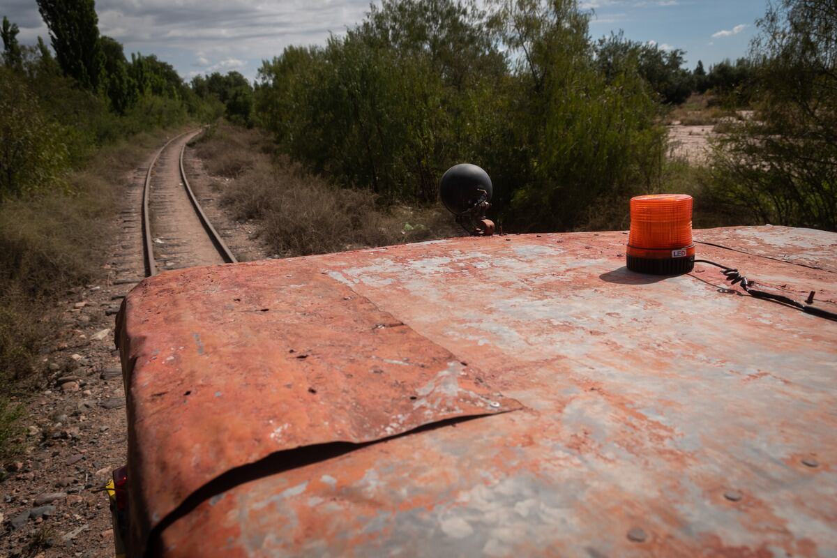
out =
{"type": "Polygon", "coordinates": [[[483,14],[447,0],[385,2],[324,49],[259,70],[259,121],[291,156],[388,202],[435,199],[480,141],[480,101],[504,69],[483,14]]]}

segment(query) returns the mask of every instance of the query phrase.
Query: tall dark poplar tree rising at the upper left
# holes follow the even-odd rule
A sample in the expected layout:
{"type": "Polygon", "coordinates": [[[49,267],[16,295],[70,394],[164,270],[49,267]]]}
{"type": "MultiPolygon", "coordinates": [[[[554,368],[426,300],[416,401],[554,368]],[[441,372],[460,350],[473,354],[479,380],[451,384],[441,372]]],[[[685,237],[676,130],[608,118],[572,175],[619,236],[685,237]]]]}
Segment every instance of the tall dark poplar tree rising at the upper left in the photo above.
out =
{"type": "Polygon", "coordinates": [[[38,0],[64,74],[97,90],[104,64],[94,0],[38,0]]]}

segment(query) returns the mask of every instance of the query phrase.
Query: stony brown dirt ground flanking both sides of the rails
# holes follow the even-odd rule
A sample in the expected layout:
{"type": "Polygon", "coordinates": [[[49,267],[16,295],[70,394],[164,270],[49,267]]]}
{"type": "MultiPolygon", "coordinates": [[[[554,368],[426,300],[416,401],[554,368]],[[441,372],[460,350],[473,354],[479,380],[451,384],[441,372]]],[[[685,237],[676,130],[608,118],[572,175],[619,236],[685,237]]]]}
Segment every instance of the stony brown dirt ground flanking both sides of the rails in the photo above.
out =
{"type": "MultiPolygon", "coordinates": [[[[60,331],[44,353],[43,391],[28,403],[25,451],[0,484],[3,556],[113,556],[108,499],[101,488],[126,463],[126,409],[114,346],[116,312],[143,275],[140,202],[151,155],[125,177],[117,233],[100,277],[54,311],[60,331]]],[[[248,223],[234,223],[213,198],[212,178],[187,152],[190,183],[213,225],[241,260],[266,251],[248,223]]],[[[103,231],[109,227],[103,227],[103,231]]]]}

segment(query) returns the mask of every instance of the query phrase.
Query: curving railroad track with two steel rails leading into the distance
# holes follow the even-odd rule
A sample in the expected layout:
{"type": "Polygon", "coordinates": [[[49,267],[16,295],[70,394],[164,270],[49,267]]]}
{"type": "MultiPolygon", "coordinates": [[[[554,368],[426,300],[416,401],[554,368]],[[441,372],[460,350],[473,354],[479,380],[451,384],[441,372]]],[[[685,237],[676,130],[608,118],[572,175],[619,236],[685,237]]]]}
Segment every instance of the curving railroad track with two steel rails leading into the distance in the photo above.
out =
{"type": "Polygon", "coordinates": [[[183,168],[183,151],[199,133],[188,131],[173,137],[148,166],[141,208],[146,276],[167,269],[237,261],[209,223],[183,168]]]}

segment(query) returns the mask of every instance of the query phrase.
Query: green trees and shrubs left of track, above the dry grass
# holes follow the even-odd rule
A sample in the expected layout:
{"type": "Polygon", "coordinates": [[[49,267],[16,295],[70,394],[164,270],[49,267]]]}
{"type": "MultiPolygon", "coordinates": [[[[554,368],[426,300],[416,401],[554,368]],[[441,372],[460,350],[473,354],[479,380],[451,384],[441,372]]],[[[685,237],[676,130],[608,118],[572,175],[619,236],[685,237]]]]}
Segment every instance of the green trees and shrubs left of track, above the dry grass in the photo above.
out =
{"type": "Polygon", "coordinates": [[[4,18],[0,200],[60,190],[101,146],[203,109],[171,65],[140,54],[129,62],[121,44],[100,37],[92,1],[69,4],[39,4],[54,55],[41,39],[19,45],[4,18]]]}

